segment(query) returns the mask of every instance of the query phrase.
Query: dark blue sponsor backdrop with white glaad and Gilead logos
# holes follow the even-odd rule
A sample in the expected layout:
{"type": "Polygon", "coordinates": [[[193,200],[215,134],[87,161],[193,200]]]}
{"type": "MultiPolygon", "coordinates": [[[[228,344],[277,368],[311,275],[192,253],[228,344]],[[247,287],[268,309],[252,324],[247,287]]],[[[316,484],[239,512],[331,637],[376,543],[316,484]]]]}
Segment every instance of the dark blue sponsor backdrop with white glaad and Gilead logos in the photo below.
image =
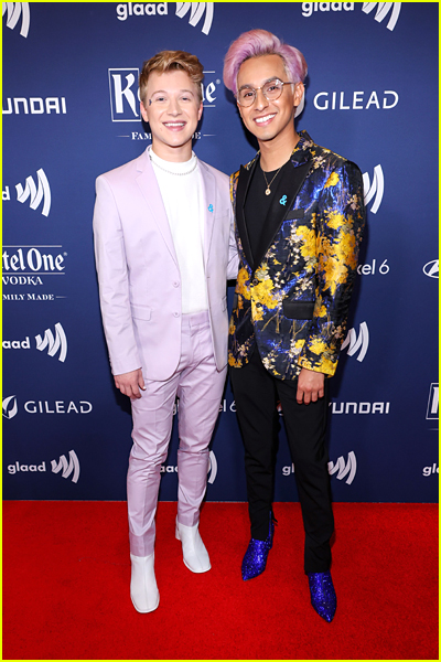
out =
{"type": "MultiPolygon", "coordinates": [[[[252,28],[306,58],[298,129],[363,172],[367,229],[332,380],[334,500],[437,500],[437,2],[3,2],[6,499],[126,499],[130,403],[114,387],[100,322],[95,179],[150,143],[137,79],[163,49],[204,65],[196,154],[226,173],[246,163],[256,145],[222,71],[252,28]]],[[[276,501],[297,501],[280,423],[276,501]]],[[[163,500],[176,499],[176,449],[175,421],[163,500]]],[[[246,500],[229,384],[207,500],[246,500]]]]}

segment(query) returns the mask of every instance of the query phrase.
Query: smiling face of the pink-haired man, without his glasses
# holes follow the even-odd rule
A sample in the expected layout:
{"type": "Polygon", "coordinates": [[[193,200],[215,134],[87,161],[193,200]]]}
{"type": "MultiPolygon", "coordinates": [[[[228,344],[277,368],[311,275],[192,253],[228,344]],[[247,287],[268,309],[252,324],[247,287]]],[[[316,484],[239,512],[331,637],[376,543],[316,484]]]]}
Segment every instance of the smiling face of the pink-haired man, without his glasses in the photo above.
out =
{"type": "MultiPolygon", "coordinates": [[[[280,55],[250,57],[240,65],[237,89],[244,86],[257,89],[273,78],[279,78],[283,83],[289,82],[280,55]]],[[[262,90],[258,89],[256,100],[251,106],[244,108],[239,104],[237,105],[245,126],[256,136],[261,148],[262,143],[275,146],[283,143],[290,149],[293,148],[297,140],[294,114],[302,94],[302,83],[283,85],[282,94],[276,100],[269,102],[262,90]]]]}

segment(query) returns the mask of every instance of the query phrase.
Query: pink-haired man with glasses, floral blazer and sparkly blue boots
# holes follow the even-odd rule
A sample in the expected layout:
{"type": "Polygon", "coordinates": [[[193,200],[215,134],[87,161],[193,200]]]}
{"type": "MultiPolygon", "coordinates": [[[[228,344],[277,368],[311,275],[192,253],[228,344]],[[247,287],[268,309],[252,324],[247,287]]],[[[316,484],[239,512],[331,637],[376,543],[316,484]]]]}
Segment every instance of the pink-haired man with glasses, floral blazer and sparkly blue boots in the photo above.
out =
{"type": "Polygon", "coordinates": [[[325,447],[329,377],[346,333],[365,210],[357,166],[295,131],[306,73],[300,51],[266,30],[241,34],[225,57],[225,85],[260,148],[230,178],[240,264],[228,363],[251,523],[243,578],[265,570],[272,547],[280,401],[302,508],[311,602],[330,622],[336,596],[325,447]]]}

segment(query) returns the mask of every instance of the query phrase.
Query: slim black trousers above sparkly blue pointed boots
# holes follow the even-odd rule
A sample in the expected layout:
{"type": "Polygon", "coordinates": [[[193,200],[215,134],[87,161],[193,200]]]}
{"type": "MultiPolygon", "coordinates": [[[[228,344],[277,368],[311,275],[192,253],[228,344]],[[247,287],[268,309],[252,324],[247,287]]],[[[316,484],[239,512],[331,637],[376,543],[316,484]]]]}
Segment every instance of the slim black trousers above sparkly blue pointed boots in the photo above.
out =
{"type": "Polygon", "coordinates": [[[334,531],[325,429],[329,385],[316,403],[299,405],[297,380],[273,377],[255,348],[249,363],[230,369],[237,418],[245,446],[251,537],[268,536],[278,447],[280,399],[305,531],[304,572],[324,573],[331,565],[330,538],[334,531]]]}

